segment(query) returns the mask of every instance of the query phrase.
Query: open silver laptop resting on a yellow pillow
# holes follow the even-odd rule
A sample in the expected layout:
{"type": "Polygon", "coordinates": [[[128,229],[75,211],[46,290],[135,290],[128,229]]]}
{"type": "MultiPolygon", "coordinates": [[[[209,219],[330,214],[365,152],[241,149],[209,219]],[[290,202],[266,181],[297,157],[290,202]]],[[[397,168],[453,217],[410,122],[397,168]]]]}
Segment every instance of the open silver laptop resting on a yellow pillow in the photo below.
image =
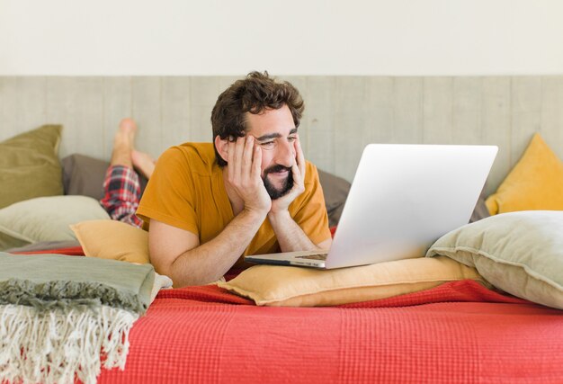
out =
{"type": "Polygon", "coordinates": [[[422,257],[469,222],[498,147],[370,144],[329,251],[246,256],[250,263],[342,268],[422,257]]]}

